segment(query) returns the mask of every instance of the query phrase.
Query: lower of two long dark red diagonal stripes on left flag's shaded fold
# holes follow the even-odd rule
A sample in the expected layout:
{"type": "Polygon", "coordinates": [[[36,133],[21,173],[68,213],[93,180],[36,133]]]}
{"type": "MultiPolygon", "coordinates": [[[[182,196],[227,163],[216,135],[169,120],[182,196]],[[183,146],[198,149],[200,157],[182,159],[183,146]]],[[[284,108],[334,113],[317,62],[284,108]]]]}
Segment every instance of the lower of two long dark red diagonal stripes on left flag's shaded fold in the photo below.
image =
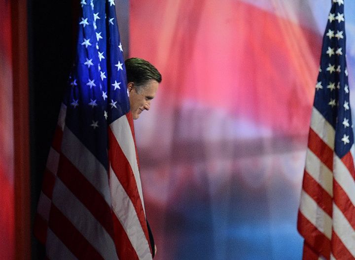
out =
{"type": "MultiPolygon", "coordinates": [[[[71,224],[71,222],[52,204],[49,217],[49,227],[63,244],[78,259],[104,260],[85,237],[71,224]]],[[[55,245],[49,245],[55,246],[55,245]]]]}

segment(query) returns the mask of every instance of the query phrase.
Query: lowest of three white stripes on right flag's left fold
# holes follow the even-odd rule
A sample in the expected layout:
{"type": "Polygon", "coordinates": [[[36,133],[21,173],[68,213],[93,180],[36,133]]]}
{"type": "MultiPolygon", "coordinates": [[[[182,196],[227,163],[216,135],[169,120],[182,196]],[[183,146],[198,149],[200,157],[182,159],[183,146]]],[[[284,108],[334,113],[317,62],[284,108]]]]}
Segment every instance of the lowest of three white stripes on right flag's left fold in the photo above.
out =
{"type": "Polygon", "coordinates": [[[331,238],[332,219],[317,204],[317,202],[302,190],[300,211],[320,232],[331,238]]]}

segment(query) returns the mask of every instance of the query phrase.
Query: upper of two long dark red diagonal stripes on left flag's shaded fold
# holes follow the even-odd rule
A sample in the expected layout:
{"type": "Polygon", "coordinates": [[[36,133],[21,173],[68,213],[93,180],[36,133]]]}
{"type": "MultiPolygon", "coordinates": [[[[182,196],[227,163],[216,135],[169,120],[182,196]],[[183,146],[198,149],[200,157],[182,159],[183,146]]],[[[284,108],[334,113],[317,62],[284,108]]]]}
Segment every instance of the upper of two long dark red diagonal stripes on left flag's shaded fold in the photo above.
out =
{"type": "Polygon", "coordinates": [[[103,196],[95,187],[63,154],[61,154],[59,159],[58,177],[91,214],[93,214],[106,229],[107,233],[114,238],[111,207],[106,203],[103,196]]]}

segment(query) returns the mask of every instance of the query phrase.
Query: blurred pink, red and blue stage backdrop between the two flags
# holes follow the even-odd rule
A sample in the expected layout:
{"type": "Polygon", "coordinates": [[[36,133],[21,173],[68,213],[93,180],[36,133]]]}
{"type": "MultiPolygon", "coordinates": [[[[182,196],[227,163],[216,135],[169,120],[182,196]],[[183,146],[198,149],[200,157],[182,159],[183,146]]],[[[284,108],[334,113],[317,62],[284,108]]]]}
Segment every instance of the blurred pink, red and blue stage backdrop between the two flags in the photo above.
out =
{"type": "MultiPolygon", "coordinates": [[[[354,105],[355,2],[344,2],[354,105]]],[[[135,122],[157,260],[301,259],[297,209],[330,3],[130,1],[130,56],[163,75],[135,122]]]]}

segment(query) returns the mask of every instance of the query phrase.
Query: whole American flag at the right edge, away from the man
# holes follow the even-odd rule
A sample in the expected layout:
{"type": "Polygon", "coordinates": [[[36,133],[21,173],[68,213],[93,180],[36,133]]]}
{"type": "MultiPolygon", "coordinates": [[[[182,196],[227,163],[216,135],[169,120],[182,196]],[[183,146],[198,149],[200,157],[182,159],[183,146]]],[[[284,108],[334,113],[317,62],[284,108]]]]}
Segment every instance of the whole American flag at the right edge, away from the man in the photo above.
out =
{"type": "Polygon", "coordinates": [[[355,259],[353,125],[343,0],[332,0],[309,131],[298,231],[303,259],[355,259]]]}

